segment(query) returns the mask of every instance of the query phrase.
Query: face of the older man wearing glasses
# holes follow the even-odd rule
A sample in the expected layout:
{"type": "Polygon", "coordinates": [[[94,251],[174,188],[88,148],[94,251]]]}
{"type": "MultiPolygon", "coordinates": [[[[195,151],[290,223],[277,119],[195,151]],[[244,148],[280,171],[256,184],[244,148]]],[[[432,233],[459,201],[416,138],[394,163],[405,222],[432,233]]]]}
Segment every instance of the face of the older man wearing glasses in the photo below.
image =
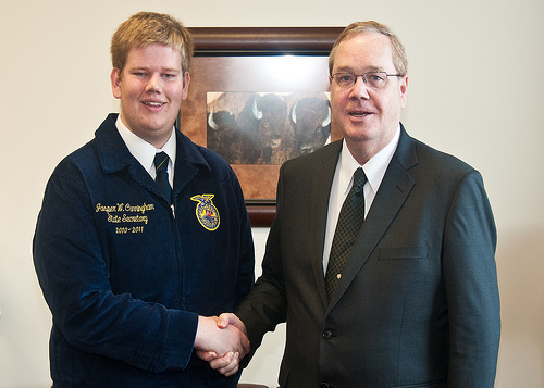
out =
{"type": "MultiPolygon", "coordinates": [[[[364,32],[348,36],[337,48],[332,74],[396,74],[390,38],[364,32]]],[[[332,79],[331,108],[336,125],[354,158],[364,164],[393,139],[406,105],[408,76],[387,77],[383,89],[368,87],[362,77],[354,86],[341,88],[332,79]]]]}

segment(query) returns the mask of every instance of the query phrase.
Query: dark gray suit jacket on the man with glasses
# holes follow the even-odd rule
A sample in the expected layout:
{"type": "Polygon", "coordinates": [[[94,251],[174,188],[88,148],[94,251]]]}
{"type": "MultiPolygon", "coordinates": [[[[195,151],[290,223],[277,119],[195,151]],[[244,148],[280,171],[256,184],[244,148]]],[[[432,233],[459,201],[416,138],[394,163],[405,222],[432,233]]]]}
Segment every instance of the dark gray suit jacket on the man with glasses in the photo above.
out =
{"type": "Polygon", "coordinates": [[[401,128],[327,302],[322,252],[341,149],[281,168],[263,273],[237,311],[254,351],[286,321],[282,387],[493,387],[496,230],[480,173],[401,128]]]}

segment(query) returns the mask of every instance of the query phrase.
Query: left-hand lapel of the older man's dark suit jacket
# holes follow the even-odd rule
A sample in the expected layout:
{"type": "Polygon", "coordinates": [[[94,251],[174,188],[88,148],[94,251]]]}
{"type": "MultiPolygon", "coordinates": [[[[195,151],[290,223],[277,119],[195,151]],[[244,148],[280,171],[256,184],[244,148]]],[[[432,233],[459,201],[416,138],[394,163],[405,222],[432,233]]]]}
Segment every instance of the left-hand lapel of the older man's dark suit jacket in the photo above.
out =
{"type": "Polygon", "coordinates": [[[319,295],[323,306],[327,304],[325,278],[323,274],[323,246],[325,241],[326,215],[329,213],[329,198],[333,183],[336,163],[342,150],[342,141],[336,141],[327,147],[316,168],[312,171],[312,187],[310,197],[310,245],[313,276],[318,285],[319,295]]]}

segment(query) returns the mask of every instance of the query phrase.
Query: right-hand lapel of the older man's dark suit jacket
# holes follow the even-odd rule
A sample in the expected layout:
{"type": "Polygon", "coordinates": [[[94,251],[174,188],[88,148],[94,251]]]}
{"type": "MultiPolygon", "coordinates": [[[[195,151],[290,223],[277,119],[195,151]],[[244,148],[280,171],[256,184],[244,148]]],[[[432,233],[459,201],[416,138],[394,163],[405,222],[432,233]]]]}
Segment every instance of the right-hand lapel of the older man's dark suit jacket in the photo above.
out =
{"type": "Polygon", "coordinates": [[[380,189],[362,224],[361,231],[348,258],[342,279],[329,304],[327,313],[342,298],[359,271],[361,271],[378,242],[380,242],[391,223],[400,211],[400,208],[416,184],[407,170],[416,164],[415,141],[406,134],[404,127],[401,127],[397,150],[387,166],[380,189]]]}

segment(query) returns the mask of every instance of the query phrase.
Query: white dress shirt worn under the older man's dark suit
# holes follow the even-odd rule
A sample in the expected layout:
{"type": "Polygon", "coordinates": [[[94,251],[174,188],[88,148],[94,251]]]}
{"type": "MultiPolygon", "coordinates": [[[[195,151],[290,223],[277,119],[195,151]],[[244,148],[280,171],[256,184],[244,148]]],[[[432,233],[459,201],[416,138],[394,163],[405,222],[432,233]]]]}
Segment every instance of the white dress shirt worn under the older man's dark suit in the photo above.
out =
{"type": "Polygon", "coordinates": [[[372,201],[380,188],[385,171],[390,165],[391,159],[395,153],[400,137],[400,125],[395,136],[380,152],[372,157],[364,165],[360,165],[349,152],[346,140],[343,140],[342,151],[336,164],[331,195],[329,197],[329,212],[326,216],[325,243],[323,247],[323,273],[326,274],[329,256],[331,255],[331,246],[333,243],[334,230],[338,222],[339,212],[344,201],[354,185],[354,173],[362,167],[367,175],[367,183],[363,187],[364,195],[364,216],[369,213],[372,201]]]}

